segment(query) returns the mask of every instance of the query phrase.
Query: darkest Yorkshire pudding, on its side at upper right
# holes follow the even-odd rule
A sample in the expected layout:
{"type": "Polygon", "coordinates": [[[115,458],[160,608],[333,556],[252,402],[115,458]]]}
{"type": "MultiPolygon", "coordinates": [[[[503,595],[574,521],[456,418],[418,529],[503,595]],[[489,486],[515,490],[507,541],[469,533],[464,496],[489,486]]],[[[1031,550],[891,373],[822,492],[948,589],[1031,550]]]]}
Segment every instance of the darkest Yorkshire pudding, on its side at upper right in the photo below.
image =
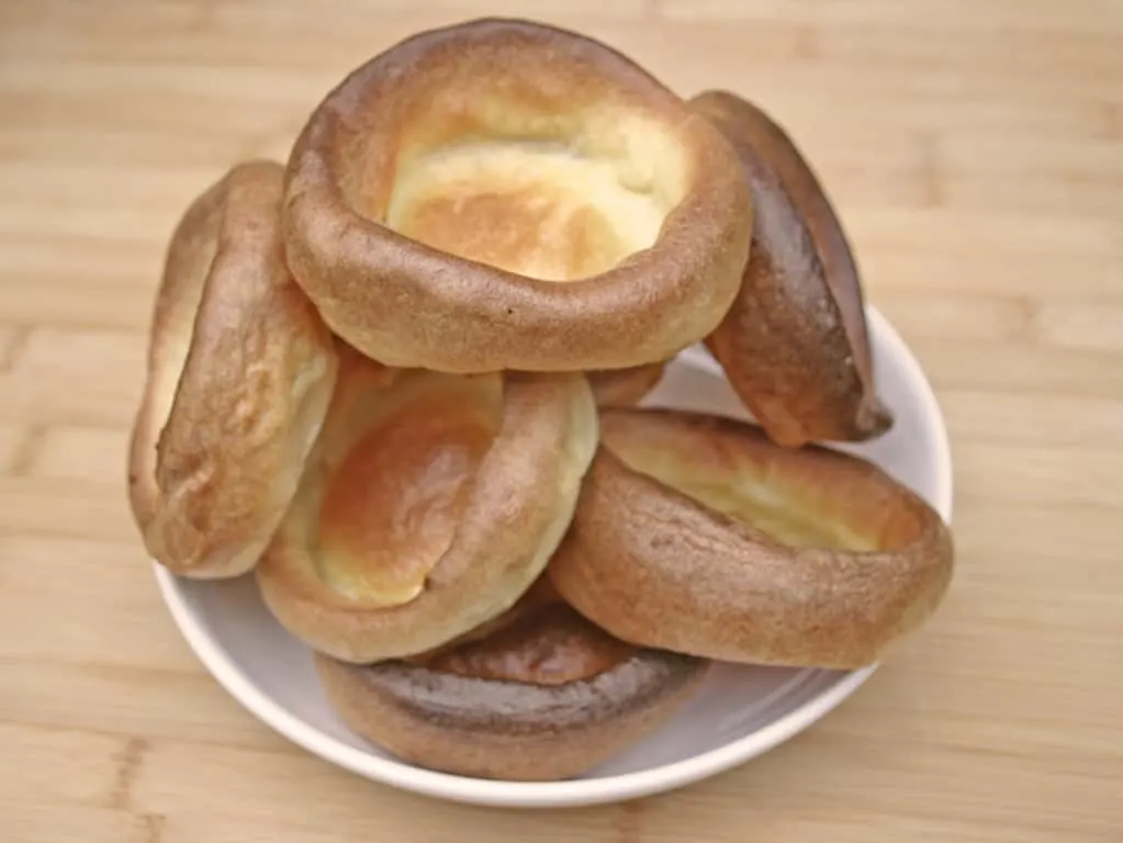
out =
{"type": "Polygon", "coordinates": [[[707,345],[775,441],[858,441],[884,433],[858,267],[834,210],[791,138],[723,91],[691,106],[729,138],[752,187],[745,283],[707,345]]]}

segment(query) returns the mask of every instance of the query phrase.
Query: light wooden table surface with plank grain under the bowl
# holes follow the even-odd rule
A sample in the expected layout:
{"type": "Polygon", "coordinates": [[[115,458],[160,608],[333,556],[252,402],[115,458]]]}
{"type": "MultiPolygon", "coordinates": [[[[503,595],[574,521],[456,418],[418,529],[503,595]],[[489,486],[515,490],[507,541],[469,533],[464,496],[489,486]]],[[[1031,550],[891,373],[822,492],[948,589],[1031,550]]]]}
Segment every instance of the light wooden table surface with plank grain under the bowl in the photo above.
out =
{"type": "Polygon", "coordinates": [[[1123,4],[533,6],[0,7],[0,839],[1123,840],[1123,4]],[[181,209],[283,156],[373,53],[495,11],[784,121],[953,440],[958,574],[931,625],[809,733],[623,806],[446,805],[293,748],[189,652],[125,503],[181,209]]]}

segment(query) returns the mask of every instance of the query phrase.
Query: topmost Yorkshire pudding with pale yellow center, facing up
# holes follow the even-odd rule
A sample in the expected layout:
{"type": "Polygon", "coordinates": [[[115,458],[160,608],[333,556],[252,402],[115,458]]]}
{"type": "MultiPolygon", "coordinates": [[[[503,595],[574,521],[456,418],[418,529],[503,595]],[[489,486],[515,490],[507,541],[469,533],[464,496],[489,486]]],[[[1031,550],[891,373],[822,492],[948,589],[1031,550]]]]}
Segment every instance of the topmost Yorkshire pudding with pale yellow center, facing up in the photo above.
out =
{"type": "Polygon", "coordinates": [[[519,20],[408,38],[312,112],[289,162],[290,265],[390,366],[613,369],[729,309],[748,185],[704,117],[595,40],[519,20]]]}

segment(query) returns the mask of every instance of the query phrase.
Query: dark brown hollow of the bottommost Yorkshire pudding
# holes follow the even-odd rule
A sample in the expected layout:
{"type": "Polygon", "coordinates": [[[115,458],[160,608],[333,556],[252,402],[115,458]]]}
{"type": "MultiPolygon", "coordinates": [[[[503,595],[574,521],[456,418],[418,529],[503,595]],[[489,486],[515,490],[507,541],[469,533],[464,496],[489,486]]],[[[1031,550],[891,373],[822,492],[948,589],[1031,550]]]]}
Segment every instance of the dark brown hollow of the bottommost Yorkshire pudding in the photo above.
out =
{"type": "Polygon", "coordinates": [[[536,608],[478,641],[421,660],[430,670],[493,681],[563,685],[591,679],[636,648],[562,602],[536,608]]]}

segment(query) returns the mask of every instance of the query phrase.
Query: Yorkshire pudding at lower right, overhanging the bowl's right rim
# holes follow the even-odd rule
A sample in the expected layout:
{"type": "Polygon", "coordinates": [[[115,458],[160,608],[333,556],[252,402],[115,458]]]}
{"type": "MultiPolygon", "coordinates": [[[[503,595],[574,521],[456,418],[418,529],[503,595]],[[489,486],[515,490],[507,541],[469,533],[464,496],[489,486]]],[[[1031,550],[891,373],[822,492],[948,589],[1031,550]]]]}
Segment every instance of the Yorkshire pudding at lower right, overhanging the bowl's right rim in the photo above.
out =
{"type": "Polygon", "coordinates": [[[877,466],[755,425],[609,410],[547,574],[608,632],[734,662],[853,668],[940,603],[950,531],[877,466]]]}

